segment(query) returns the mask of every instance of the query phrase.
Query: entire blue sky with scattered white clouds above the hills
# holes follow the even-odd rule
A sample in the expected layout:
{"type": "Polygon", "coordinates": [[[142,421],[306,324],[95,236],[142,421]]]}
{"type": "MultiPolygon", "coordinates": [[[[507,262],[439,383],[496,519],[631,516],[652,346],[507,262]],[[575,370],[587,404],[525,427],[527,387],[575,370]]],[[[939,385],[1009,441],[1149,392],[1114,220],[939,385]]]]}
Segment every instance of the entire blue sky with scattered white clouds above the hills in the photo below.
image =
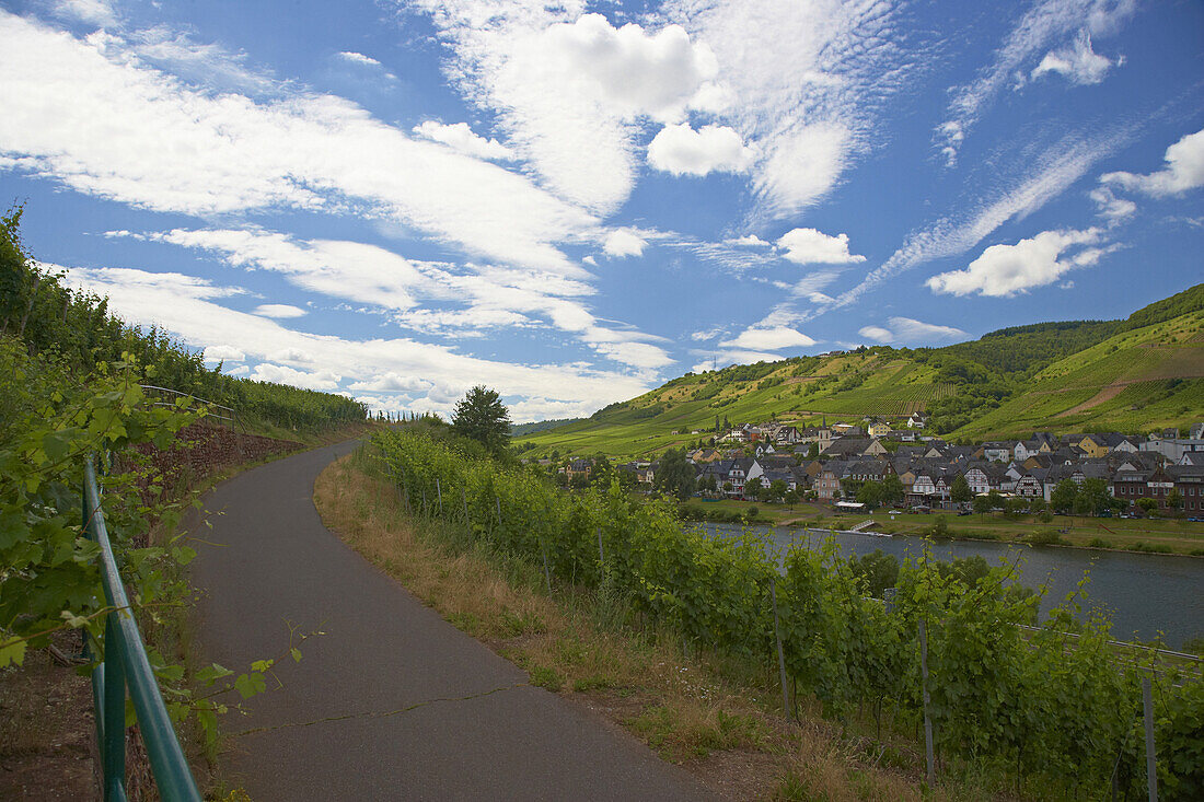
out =
{"type": "Polygon", "coordinates": [[[0,2],[33,253],[240,376],[515,420],[1204,278],[1204,5],[0,2]]]}

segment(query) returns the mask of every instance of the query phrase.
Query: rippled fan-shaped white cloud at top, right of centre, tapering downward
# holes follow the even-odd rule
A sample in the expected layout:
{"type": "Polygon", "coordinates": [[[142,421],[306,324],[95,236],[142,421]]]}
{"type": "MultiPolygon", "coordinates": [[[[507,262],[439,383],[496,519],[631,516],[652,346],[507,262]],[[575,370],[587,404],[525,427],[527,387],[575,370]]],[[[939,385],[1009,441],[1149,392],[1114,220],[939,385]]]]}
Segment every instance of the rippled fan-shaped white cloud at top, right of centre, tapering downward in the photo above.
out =
{"type": "Polygon", "coordinates": [[[673,0],[665,13],[710,47],[718,112],[762,158],[762,212],[790,217],[879,141],[875,118],[907,85],[889,2],[673,0]]]}

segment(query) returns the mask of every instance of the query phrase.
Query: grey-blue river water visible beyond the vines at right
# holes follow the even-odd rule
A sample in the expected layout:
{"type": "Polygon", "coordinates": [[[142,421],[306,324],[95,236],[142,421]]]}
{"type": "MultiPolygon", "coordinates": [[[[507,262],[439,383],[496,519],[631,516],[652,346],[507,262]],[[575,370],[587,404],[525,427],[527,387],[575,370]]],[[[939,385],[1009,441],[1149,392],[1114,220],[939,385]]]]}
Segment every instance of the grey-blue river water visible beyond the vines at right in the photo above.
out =
{"type": "MultiPolygon", "coordinates": [[[[743,530],[725,524],[702,527],[716,537],[734,537],[743,530]]],[[[819,548],[833,536],[845,556],[870,554],[881,549],[903,558],[920,554],[923,539],[909,536],[874,537],[856,532],[830,532],[816,529],[780,529],[757,526],[750,531],[768,533],[777,546],[779,560],[795,543],[819,548]]],[[[1017,582],[1031,588],[1049,585],[1041,613],[1056,606],[1075,589],[1090,571],[1087,606],[1102,608],[1112,619],[1112,637],[1152,639],[1159,632],[1167,648],[1181,648],[1188,638],[1204,636],[1204,559],[1168,554],[1128,554],[1096,549],[1029,547],[986,541],[945,541],[933,543],[934,556],[942,560],[981,555],[988,564],[1010,565],[1017,555],[1017,582]]]]}

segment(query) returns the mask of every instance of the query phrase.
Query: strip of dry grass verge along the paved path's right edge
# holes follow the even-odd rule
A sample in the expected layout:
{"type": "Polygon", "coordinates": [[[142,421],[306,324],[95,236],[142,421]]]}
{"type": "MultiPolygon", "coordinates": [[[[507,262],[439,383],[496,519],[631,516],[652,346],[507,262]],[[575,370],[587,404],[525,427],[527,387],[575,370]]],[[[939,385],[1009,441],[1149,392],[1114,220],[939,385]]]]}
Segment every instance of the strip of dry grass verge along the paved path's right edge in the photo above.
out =
{"type": "Polygon", "coordinates": [[[784,721],[768,670],[687,656],[677,637],[639,627],[621,600],[565,586],[549,597],[535,566],[468,542],[455,526],[411,519],[362,452],[321,473],[314,502],[331,531],[533,684],[624,726],[721,795],[923,796],[919,766],[881,765],[881,754],[855,747],[862,739],[843,737],[814,710],[801,726],[784,721]]]}

